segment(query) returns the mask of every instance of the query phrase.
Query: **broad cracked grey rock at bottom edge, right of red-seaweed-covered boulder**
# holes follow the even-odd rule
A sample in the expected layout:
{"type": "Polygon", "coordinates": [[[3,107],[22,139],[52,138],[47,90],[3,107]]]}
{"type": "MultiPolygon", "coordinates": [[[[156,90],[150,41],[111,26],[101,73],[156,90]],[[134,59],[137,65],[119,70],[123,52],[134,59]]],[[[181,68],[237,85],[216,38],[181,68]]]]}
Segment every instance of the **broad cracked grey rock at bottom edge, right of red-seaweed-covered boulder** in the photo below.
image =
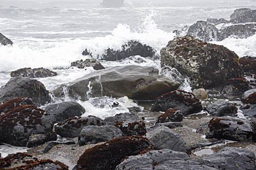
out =
{"type": "Polygon", "coordinates": [[[216,169],[201,165],[199,162],[191,160],[191,158],[181,152],[170,149],[150,150],[136,156],[129,156],[121,162],[116,170],[128,169],[187,169],[187,170],[210,170],[216,169]]]}

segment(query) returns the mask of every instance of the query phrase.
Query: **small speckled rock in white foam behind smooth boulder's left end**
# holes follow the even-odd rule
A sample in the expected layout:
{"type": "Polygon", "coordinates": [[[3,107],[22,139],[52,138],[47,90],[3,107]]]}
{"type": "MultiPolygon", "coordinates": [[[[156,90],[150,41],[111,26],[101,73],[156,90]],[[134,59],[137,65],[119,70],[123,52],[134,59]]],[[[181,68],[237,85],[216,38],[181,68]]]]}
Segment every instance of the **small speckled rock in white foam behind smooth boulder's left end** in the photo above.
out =
{"type": "Polygon", "coordinates": [[[77,68],[93,67],[95,70],[100,70],[105,68],[101,65],[100,62],[98,62],[95,59],[86,59],[85,61],[78,60],[78,61],[72,62],[71,67],[77,67],[77,68]]]}

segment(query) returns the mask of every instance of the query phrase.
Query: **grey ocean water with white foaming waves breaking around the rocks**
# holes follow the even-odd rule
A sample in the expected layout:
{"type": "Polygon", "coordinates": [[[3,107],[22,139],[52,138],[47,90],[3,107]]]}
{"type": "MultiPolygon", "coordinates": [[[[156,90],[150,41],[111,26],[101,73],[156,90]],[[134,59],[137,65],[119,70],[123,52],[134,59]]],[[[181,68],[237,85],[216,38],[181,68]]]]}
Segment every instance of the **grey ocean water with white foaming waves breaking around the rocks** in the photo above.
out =
{"type": "MultiPolygon", "coordinates": [[[[122,8],[102,8],[101,0],[81,2],[20,2],[1,0],[0,32],[11,39],[12,46],[0,45],[0,86],[10,79],[10,72],[19,68],[44,67],[56,71],[58,75],[39,78],[46,89],[53,90],[62,83],[73,81],[94,69],[69,68],[71,62],[85,60],[85,49],[94,51],[95,56],[104,67],[121,65],[152,66],[161,72],[160,58],[140,56],[126,58],[118,62],[102,61],[98,55],[104,50],[121,49],[129,40],[138,40],[152,46],[156,54],[175,37],[173,30],[196,21],[206,21],[210,17],[229,20],[238,8],[256,9],[255,0],[216,0],[216,1],[135,1],[125,0],[122,8]]],[[[256,35],[247,39],[229,37],[222,42],[235,51],[239,57],[256,56],[256,35]]],[[[187,82],[187,81],[186,81],[187,82]]],[[[190,91],[189,82],[181,89],[190,91]]],[[[66,96],[62,101],[71,101],[66,96]]],[[[54,102],[60,102],[55,99],[54,102]]],[[[89,101],[77,101],[83,105],[86,115],[95,115],[102,119],[118,113],[129,112],[129,107],[143,107],[127,98],[90,98],[89,101]],[[112,108],[113,102],[119,107],[112,108]]]]}

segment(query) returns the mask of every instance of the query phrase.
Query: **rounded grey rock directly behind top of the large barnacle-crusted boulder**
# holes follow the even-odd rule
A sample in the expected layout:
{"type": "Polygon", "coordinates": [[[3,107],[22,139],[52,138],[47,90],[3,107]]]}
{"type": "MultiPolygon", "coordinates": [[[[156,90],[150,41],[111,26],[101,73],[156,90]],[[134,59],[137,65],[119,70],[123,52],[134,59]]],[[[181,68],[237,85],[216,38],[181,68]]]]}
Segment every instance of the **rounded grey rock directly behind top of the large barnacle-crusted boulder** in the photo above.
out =
{"type": "Polygon", "coordinates": [[[188,36],[193,36],[204,42],[208,42],[217,40],[218,29],[206,21],[197,21],[196,24],[193,24],[189,27],[187,34],[188,36]]]}

